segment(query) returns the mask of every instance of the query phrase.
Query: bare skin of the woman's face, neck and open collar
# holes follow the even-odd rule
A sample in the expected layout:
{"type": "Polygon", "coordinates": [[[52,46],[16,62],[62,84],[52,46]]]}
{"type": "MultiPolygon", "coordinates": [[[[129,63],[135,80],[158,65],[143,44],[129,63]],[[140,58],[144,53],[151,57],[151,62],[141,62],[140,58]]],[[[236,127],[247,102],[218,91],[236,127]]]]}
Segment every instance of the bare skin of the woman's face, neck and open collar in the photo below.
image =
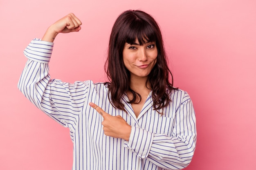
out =
{"type": "MultiPolygon", "coordinates": [[[[151,91],[147,79],[157,61],[157,46],[155,42],[139,45],[137,39],[132,44],[126,43],[123,50],[123,60],[125,67],[130,71],[131,89],[141,95],[141,101],[137,100],[131,104],[136,117],[138,117],[151,91]]],[[[127,92],[127,95],[129,99],[132,99],[133,96],[130,92],[127,92]]]]}

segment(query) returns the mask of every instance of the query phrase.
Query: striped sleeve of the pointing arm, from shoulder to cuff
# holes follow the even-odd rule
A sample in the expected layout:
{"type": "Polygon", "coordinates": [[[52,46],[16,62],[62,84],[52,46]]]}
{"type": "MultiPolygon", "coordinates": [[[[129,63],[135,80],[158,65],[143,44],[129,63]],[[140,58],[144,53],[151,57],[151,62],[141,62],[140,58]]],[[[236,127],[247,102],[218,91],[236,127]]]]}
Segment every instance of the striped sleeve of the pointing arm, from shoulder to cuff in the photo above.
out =
{"type": "Polygon", "coordinates": [[[183,169],[192,160],[196,146],[195,111],[189,96],[176,111],[172,135],[152,133],[132,127],[127,148],[141,159],[168,170],[183,169]],[[139,142],[138,142],[139,141],[139,142]]]}

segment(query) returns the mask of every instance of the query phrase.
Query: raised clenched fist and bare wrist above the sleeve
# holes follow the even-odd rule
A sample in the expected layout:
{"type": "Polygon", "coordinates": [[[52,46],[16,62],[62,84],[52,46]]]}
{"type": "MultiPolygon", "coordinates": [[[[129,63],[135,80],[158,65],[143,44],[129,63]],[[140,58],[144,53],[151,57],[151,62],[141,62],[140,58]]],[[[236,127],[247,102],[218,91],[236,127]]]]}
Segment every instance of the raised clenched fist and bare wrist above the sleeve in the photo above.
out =
{"type": "Polygon", "coordinates": [[[78,32],[81,29],[81,24],[82,22],[73,13],[70,13],[49,26],[42,41],[53,42],[58,33],[78,32]]]}

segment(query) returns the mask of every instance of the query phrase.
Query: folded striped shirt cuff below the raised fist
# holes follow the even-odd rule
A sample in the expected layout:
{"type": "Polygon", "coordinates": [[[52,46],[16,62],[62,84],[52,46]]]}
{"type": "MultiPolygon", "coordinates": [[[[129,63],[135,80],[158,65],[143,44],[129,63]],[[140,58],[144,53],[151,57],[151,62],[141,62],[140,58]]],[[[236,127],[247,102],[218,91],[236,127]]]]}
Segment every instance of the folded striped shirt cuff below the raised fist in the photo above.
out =
{"type": "Polygon", "coordinates": [[[48,64],[52,55],[53,45],[53,42],[35,38],[24,50],[24,55],[30,60],[48,64]]]}

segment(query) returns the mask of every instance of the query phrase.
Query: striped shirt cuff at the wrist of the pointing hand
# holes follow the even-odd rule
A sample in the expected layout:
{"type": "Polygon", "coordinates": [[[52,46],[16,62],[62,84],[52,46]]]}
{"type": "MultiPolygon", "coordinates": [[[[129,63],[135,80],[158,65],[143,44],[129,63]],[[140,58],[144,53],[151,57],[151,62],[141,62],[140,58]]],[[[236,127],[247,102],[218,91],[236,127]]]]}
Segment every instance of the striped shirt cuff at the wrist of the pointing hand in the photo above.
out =
{"type": "Polygon", "coordinates": [[[141,159],[148,157],[154,134],[139,127],[132,126],[130,138],[124,147],[135,152],[141,159]]]}

